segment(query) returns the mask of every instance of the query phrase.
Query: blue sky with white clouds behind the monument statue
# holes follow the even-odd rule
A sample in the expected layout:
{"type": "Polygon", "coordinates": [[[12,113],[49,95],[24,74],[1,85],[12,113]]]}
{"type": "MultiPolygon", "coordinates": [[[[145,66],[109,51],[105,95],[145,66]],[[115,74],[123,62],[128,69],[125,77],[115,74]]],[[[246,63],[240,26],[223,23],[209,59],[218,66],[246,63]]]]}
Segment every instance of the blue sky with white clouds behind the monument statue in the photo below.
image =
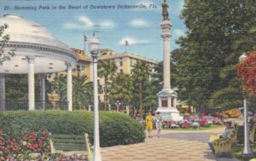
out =
{"type": "MultiPolygon", "coordinates": [[[[90,39],[92,33],[96,32],[102,43],[101,48],[121,53],[125,51],[127,40],[128,52],[162,60],[161,3],[160,0],[2,0],[0,15],[2,17],[3,14],[21,14],[25,19],[46,27],[55,37],[72,48],[84,49],[84,33],[90,39]],[[142,4],[147,9],[116,9],[118,4],[142,4]],[[150,4],[154,4],[156,8],[149,9],[150,4]],[[68,5],[81,6],[82,9],[68,9],[68,5]],[[86,5],[88,8],[83,9],[86,5]],[[99,5],[113,5],[115,9],[90,9],[99,5]],[[37,9],[15,10],[15,6],[37,9]],[[40,6],[49,6],[49,9],[39,9],[40,6]],[[52,9],[52,6],[56,9],[52,9]],[[60,6],[66,9],[60,9],[60,6]]],[[[175,49],[178,47],[175,40],[186,31],[183,20],[179,19],[183,0],[167,0],[167,3],[172,21],[170,45],[171,49],[175,49]]]]}

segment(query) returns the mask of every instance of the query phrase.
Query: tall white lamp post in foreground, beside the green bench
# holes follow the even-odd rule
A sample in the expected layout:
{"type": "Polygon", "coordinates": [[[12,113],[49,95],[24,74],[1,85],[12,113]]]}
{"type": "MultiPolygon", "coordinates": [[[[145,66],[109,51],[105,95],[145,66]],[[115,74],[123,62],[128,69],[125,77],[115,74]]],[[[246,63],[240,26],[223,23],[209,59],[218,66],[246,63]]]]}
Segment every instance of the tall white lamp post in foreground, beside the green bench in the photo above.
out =
{"type": "Polygon", "coordinates": [[[93,92],[94,92],[94,161],[102,161],[100,149],[100,130],[99,130],[99,105],[98,105],[98,76],[97,76],[97,57],[99,55],[100,41],[93,34],[90,42],[90,55],[93,59],[93,92]]]}

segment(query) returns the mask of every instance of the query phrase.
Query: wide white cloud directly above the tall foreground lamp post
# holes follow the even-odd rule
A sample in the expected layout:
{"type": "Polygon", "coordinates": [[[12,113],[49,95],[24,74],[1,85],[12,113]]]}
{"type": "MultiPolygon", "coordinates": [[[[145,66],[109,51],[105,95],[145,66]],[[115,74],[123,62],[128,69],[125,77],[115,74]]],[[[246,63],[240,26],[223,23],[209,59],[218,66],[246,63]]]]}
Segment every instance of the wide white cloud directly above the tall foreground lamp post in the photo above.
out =
{"type": "Polygon", "coordinates": [[[115,23],[111,20],[103,20],[99,22],[95,22],[90,20],[89,17],[80,15],[77,16],[75,22],[67,22],[63,25],[64,28],[70,30],[86,30],[92,27],[99,27],[99,28],[114,28],[115,23]]]}

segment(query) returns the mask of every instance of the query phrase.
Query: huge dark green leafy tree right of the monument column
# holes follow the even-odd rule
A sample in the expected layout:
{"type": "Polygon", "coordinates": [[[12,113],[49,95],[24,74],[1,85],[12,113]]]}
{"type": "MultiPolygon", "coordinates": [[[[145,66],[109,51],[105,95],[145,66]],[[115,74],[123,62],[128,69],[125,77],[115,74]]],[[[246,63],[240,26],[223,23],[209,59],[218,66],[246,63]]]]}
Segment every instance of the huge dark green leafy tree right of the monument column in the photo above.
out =
{"type": "Polygon", "coordinates": [[[172,52],[181,101],[207,108],[212,94],[229,86],[229,77],[222,79],[219,72],[228,65],[236,40],[255,26],[255,11],[253,1],[185,1],[181,18],[188,31],[177,40],[180,49],[172,52]]]}

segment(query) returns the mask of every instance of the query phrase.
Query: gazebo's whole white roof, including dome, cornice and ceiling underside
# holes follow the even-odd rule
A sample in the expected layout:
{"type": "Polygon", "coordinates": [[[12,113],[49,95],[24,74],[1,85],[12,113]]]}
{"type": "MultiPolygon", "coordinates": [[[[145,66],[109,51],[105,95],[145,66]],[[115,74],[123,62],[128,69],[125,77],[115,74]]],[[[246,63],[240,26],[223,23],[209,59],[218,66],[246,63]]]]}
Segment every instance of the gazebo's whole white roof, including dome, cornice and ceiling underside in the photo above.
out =
{"type": "Polygon", "coordinates": [[[27,73],[29,57],[34,59],[35,73],[62,72],[79,60],[67,44],[21,15],[5,14],[0,19],[0,26],[3,24],[8,25],[3,35],[9,35],[9,42],[3,44],[3,55],[15,50],[15,56],[3,62],[0,73],[27,73]]]}

